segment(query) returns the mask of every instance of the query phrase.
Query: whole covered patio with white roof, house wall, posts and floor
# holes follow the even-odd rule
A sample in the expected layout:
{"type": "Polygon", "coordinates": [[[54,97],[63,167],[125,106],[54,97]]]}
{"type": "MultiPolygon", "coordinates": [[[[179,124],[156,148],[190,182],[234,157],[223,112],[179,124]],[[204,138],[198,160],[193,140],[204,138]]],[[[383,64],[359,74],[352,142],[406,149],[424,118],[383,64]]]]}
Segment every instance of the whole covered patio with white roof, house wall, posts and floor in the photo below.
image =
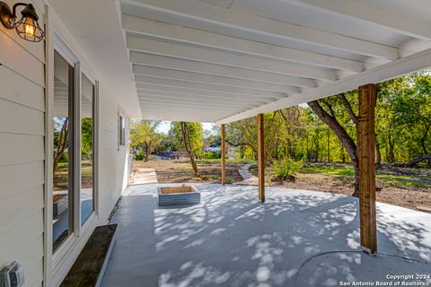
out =
{"type": "Polygon", "coordinates": [[[24,286],[75,283],[68,272],[87,267],[76,258],[107,222],[117,241],[95,285],[103,271],[103,286],[429,283],[431,215],[376,203],[374,155],[378,84],[431,66],[429,0],[29,0],[40,42],[22,39],[9,10],[23,4],[6,2],[0,268],[21,262],[24,286]],[[264,114],[356,89],[358,198],[266,187],[264,114]],[[201,204],[170,208],[154,173],[128,187],[130,119],[221,126],[224,184],[225,127],[251,117],[258,187],[198,184],[201,204]],[[66,189],[67,221],[53,212],[66,189]]]}

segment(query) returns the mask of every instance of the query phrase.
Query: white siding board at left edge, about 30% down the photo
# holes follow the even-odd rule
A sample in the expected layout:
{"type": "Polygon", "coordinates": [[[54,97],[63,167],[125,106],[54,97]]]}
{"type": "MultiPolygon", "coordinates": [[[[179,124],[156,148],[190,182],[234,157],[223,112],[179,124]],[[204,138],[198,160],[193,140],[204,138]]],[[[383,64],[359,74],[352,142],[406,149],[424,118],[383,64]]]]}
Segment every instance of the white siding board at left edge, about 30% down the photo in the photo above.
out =
{"type": "Polygon", "coordinates": [[[45,110],[45,89],[0,65],[0,99],[32,109],[45,110]]]}

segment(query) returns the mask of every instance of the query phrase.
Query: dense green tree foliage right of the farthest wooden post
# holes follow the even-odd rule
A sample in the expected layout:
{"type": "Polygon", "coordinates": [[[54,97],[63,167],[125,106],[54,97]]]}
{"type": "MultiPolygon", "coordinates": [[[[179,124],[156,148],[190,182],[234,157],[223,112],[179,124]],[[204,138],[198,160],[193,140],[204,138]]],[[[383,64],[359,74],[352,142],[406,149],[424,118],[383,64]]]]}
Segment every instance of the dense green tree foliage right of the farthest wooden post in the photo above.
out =
{"type": "MultiPolygon", "coordinates": [[[[346,92],[353,112],[358,113],[357,90],[346,92]]],[[[333,113],[356,143],[356,125],[338,96],[323,100],[322,108],[333,113]]],[[[227,141],[236,159],[257,159],[255,117],[226,126],[227,141]]],[[[378,86],[375,109],[377,154],[382,163],[408,162],[431,153],[431,74],[401,76],[378,86]]],[[[299,161],[349,162],[337,135],[305,105],[265,114],[267,165],[285,157],[299,161]]],[[[428,162],[431,164],[431,162],[428,162]]]]}

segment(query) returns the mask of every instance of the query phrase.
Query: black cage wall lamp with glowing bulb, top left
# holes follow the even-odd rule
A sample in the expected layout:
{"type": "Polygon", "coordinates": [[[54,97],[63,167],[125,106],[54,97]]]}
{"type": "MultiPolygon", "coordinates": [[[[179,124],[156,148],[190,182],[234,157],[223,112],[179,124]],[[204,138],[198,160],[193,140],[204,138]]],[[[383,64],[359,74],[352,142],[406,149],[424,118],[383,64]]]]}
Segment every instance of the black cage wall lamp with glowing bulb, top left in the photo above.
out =
{"type": "Polygon", "coordinates": [[[40,42],[45,36],[45,32],[40,28],[39,16],[33,4],[16,3],[13,8],[8,4],[0,2],[0,21],[7,29],[15,29],[18,36],[31,42],[40,42]],[[16,8],[25,6],[22,9],[22,18],[16,22],[16,8]]]}

